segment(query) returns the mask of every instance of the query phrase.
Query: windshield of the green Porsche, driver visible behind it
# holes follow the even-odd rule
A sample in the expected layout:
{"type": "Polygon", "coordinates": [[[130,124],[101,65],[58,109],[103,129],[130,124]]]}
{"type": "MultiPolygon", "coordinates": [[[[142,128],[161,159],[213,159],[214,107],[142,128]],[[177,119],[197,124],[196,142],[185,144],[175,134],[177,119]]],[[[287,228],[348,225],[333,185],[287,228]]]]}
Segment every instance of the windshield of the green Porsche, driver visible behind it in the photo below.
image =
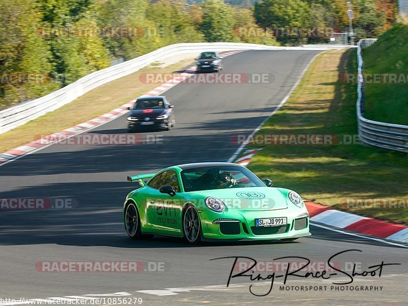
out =
{"type": "Polygon", "coordinates": [[[184,190],[198,191],[238,187],[265,187],[248,169],[240,166],[210,166],[181,172],[184,190]]]}

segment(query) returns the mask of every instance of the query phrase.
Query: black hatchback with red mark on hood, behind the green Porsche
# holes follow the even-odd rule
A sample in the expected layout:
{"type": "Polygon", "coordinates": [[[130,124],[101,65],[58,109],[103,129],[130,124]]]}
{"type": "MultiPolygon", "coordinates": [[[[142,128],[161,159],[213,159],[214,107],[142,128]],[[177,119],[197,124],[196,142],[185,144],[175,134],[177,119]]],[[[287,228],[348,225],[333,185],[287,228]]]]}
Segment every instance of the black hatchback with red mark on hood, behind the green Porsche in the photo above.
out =
{"type": "Polygon", "coordinates": [[[145,96],[136,100],[127,116],[127,125],[131,132],[140,129],[164,129],[174,127],[174,105],[170,105],[165,96],[145,96]]]}

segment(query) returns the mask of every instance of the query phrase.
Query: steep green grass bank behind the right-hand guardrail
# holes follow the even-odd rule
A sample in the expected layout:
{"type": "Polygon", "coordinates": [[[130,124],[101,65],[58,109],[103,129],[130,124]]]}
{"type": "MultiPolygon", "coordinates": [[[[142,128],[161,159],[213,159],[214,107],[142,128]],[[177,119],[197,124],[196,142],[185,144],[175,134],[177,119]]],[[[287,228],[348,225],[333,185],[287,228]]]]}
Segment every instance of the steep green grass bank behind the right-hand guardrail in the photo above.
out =
{"type": "MultiPolygon", "coordinates": [[[[397,74],[398,84],[366,82],[365,117],[408,125],[408,25],[397,24],[363,49],[364,73],[397,74]]],[[[371,80],[371,79],[369,79],[371,80]]]]}

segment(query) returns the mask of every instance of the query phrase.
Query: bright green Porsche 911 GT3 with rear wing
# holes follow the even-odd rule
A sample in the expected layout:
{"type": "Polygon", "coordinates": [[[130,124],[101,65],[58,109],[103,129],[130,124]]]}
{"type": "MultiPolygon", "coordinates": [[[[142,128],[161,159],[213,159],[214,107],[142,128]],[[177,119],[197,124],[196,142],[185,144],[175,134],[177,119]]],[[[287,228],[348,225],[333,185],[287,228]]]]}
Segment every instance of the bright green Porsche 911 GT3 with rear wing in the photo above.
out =
{"type": "Polygon", "coordinates": [[[127,177],[124,227],[133,238],[165,235],[201,240],[281,239],[311,235],[309,213],[296,192],[272,187],[244,166],[189,163],[127,177]]]}

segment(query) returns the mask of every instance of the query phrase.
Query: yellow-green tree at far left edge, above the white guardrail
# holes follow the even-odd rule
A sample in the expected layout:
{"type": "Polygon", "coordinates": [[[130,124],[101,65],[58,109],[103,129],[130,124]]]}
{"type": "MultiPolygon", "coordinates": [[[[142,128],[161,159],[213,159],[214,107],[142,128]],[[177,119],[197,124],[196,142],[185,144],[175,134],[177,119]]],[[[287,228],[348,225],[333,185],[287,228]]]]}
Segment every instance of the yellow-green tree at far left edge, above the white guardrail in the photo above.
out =
{"type": "Polygon", "coordinates": [[[49,46],[35,35],[41,24],[35,1],[1,0],[0,11],[0,107],[5,108],[47,94],[58,84],[49,78],[49,46]]]}

